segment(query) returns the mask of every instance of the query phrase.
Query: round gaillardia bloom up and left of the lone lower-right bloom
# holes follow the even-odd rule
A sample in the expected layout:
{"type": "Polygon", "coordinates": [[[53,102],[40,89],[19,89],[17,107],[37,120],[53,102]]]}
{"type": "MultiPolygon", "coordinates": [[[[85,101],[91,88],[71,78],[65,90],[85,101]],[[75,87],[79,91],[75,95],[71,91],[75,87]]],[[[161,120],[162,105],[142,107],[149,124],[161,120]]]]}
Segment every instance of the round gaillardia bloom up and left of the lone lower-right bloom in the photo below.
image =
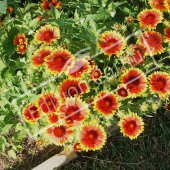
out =
{"type": "Polygon", "coordinates": [[[118,107],[118,101],[111,92],[100,92],[94,101],[94,109],[104,116],[114,115],[118,107]]]}

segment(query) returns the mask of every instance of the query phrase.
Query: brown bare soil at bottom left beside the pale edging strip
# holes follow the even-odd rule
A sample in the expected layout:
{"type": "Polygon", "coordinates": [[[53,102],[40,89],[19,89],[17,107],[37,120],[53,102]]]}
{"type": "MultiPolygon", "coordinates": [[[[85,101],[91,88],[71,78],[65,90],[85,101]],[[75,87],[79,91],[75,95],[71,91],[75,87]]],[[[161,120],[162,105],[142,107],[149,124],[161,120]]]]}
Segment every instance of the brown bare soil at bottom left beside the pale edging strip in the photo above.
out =
{"type": "Polygon", "coordinates": [[[17,152],[17,159],[6,153],[0,153],[0,170],[31,170],[57,153],[63,148],[54,144],[39,146],[29,137],[22,142],[23,151],[17,152]]]}

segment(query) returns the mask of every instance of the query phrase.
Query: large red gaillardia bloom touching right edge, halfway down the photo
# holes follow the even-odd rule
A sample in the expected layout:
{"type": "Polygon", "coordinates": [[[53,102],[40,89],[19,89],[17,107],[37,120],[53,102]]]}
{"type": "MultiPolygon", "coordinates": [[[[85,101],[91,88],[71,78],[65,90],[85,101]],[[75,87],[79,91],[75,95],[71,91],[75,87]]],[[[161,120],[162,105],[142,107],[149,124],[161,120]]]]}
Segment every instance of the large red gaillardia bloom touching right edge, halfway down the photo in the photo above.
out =
{"type": "Polygon", "coordinates": [[[149,87],[153,93],[168,94],[170,92],[170,76],[166,72],[154,72],[149,76],[149,87]]]}

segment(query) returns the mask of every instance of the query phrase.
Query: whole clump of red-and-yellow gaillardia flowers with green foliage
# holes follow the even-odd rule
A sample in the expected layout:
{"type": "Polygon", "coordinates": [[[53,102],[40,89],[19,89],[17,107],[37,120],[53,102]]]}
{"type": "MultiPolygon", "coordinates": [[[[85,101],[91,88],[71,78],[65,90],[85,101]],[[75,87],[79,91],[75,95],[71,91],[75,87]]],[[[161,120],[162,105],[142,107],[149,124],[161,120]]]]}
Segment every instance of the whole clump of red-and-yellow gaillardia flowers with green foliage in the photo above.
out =
{"type": "Polygon", "coordinates": [[[99,150],[110,126],[136,139],[145,117],[161,105],[170,110],[169,1],[140,1],[138,10],[132,1],[84,2],[43,0],[24,7],[23,20],[10,20],[19,13],[9,7],[1,16],[11,49],[0,43],[0,80],[42,146],[99,150]]]}

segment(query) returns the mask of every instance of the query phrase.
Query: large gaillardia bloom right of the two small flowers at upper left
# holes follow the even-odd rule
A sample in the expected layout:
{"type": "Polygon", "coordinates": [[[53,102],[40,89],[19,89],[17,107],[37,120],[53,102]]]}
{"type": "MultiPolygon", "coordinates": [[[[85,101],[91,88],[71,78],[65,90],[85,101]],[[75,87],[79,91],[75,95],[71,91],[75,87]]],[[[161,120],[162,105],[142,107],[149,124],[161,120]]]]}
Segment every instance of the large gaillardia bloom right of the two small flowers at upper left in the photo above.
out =
{"type": "Polygon", "coordinates": [[[51,44],[53,40],[60,38],[60,30],[58,27],[53,27],[52,25],[42,26],[36,31],[35,40],[38,43],[45,42],[51,44]]]}

